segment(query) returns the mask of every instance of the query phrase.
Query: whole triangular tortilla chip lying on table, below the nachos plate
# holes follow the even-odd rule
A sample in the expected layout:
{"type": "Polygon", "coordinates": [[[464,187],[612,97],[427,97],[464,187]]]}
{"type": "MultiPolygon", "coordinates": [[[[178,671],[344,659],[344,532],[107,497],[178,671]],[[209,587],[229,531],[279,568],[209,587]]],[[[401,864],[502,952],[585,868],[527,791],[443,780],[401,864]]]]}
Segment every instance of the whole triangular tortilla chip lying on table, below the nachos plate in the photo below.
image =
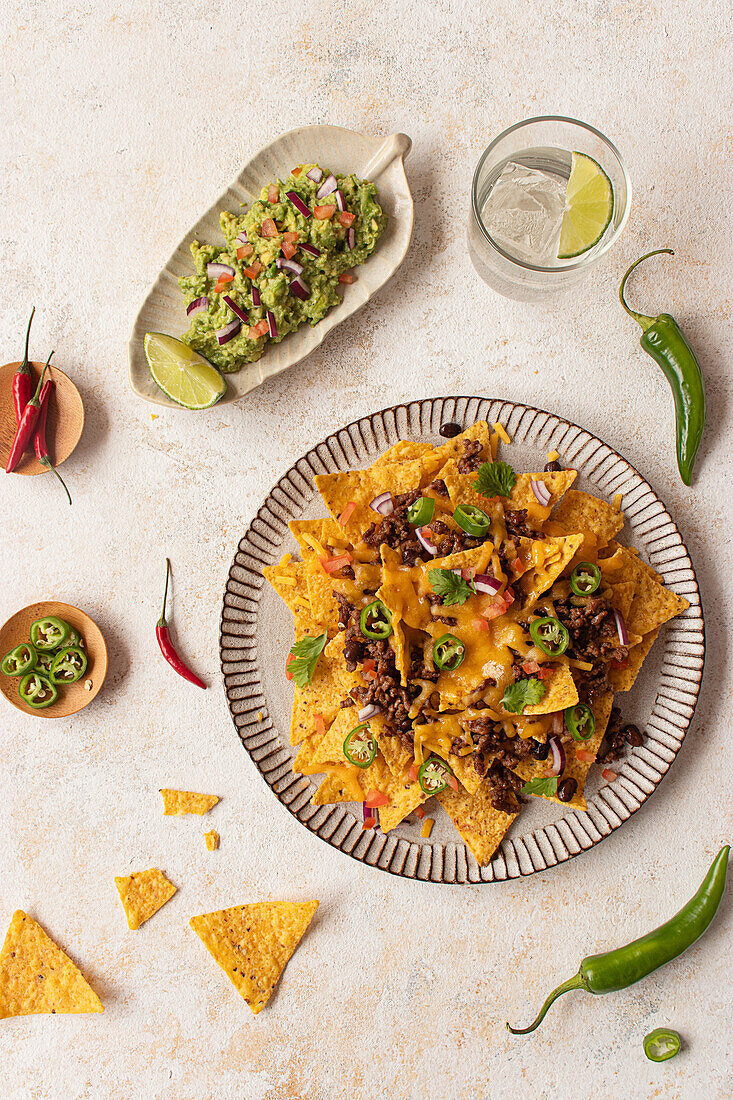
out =
{"type": "Polygon", "coordinates": [[[188,923],[256,1015],[317,909],[317,901],[263,901],[203,913],[188,923]]]}

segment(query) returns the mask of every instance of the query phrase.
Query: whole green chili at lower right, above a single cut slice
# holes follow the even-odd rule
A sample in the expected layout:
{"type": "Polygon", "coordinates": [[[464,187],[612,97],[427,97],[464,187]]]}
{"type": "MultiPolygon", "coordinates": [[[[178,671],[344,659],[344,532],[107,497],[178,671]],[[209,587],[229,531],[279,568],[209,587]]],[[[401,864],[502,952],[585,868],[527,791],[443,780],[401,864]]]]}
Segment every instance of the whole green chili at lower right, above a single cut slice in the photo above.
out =
{"type": "Polygon", "coordinates": [[[721,848],[698,892],[670,921],[625,947],[602,955],[589,955],[573,978],[553,990],[534,1023],[528,1027],[506,1025],[512,1034],[527,1035],[533,1032],[545,1019],[550,1004],[571,989],[584,989],[588,993],[614,993],[641,981],[687,950],[700,938],[718,911],[725,889],[730,851],[730,844],[721,848]]]}

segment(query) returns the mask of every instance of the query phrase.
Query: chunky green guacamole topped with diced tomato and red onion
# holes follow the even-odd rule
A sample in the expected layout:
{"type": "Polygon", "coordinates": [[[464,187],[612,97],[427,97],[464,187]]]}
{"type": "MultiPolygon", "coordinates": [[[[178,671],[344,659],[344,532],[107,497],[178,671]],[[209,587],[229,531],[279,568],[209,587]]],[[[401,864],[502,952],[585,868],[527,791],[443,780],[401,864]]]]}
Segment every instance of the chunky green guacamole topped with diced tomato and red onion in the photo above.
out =
{"type": "Polygon", "coordinates": [[[253,363],[270,340],[317,324],[341,300],[339,283],[351,282],[386,221],[374,184],[299,165],[247,213],[222,211],[223,246],[194,241],[196,274],[178,279],[190,311],[182,340],[225,373],[253,363]]]}

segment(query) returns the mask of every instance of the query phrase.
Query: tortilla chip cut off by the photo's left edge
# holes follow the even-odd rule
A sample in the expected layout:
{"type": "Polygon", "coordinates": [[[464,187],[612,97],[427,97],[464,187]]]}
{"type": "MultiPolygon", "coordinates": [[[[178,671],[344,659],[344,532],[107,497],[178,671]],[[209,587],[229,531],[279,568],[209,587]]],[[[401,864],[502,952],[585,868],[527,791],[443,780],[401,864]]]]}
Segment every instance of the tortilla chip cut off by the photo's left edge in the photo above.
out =
{"type": "Polygon", "coordinates": [[[33,917],[13,913],[0,952],[0,1020],[42,1012],[103,1012],[81,971],[33,917]]]}

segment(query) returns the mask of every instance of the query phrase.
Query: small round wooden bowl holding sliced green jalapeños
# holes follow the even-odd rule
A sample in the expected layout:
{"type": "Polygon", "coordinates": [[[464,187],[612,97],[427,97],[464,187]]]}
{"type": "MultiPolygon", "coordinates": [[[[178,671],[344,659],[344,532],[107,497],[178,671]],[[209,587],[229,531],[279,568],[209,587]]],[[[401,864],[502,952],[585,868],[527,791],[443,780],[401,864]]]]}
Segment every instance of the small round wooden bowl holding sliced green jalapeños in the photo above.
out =
{"type": "Polygon", "coordinates": [[[0,672],[0,691],[9,703],[25,714],[32,714],[40,718],[66,718],[69,714],[83,711],[99,694],[107,675],[107,644],[95,620],[89,618],[85,612],[79,610],[78,607],[72,607],[70,604],[59,604],[54,600],[47,600],[39,604],[31,604],[21,612],[15,612],[0,628],[0,659],[22,641],[28,641],[31,624],[46,615],[56,615],[58,618],[66,619],[70,626],[79,631],[84,638],[84,648],[87,654],[87,671],[75,684],[59,685],[58,698],[45,711],[35,711],[20,697],[18,688],[22,676],[7,676],[0,672]],[[90,689],[85,688],[87,680],[91,681],[90,689]]]}

